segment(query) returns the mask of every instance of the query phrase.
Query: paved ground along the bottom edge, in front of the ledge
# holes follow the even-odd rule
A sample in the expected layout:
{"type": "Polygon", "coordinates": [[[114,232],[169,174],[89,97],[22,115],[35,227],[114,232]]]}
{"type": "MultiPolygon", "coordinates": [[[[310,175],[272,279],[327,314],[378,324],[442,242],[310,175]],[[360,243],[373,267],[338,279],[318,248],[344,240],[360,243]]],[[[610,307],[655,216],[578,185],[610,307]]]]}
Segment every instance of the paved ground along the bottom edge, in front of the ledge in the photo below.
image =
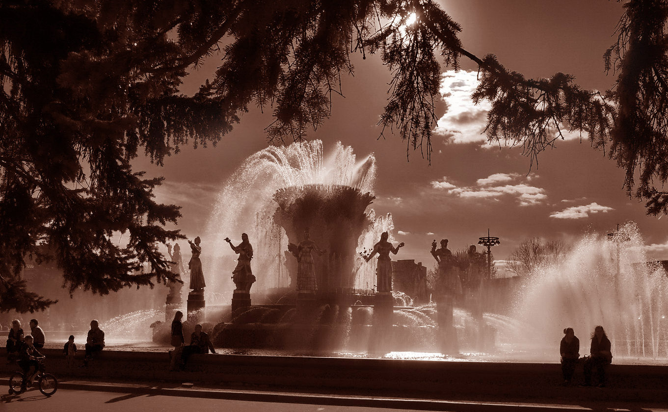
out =
{"type": "MultiPolygon", "coordinates": [[[[7,380],[0,379],[0,388],[7,380]]],[[[360,397],[315,393],[285,393],[229,390],[166,384],[140,385],[91,381],[63,381],[52,397],[37,389],[20,395],[0,395],[0,412],[99,412],[99,411],[271,411],[271,412],[362,412],[362,411],[453,411],[453,412],[668,412],[649,405],[551,405],[536,403],[480,403],[433,401],[392,397],[360,397]]]]}

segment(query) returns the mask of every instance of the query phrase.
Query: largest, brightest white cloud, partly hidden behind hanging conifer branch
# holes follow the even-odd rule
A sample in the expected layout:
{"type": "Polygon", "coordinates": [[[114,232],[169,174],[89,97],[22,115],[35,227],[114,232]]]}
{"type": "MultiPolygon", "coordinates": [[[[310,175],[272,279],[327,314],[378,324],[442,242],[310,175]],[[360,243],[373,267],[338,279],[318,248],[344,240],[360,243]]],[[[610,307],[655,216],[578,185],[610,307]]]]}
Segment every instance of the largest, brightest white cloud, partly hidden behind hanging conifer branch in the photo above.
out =
{"type": "MultiPolygon", "coordinates": [[[[442,74],[439,92],[446,104],[446,112],[436,122],[434,134],[442,136],[444,142],[495,147],[488,144],[487,136],[484,134],[487,114],[492,105],[487,100],[482,100],[477,105],[473,103],[471,95],[476,87],[478,87],[478,71],[448,70],[442,74]]],[[[569,132],[562,124],[560,130],[563,140],[581,140],[579,132],[569,132]]],[[[550,128],[550,134],[556,137],[556,128],[550,128]]]]}

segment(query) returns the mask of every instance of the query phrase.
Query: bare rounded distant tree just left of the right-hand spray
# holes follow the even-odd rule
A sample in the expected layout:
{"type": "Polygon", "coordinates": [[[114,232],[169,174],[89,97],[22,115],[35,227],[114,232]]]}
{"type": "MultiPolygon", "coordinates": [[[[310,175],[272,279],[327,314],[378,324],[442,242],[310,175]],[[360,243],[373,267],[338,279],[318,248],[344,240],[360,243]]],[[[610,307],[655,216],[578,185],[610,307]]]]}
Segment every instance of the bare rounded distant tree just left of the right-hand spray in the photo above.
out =
{"type": "Polygon", "coordinates": [[[507,269],[518,276],[531,276],[536,268],[558,262],[566,252],[561,240],[526,239],[510,254],[507,269]]]}

